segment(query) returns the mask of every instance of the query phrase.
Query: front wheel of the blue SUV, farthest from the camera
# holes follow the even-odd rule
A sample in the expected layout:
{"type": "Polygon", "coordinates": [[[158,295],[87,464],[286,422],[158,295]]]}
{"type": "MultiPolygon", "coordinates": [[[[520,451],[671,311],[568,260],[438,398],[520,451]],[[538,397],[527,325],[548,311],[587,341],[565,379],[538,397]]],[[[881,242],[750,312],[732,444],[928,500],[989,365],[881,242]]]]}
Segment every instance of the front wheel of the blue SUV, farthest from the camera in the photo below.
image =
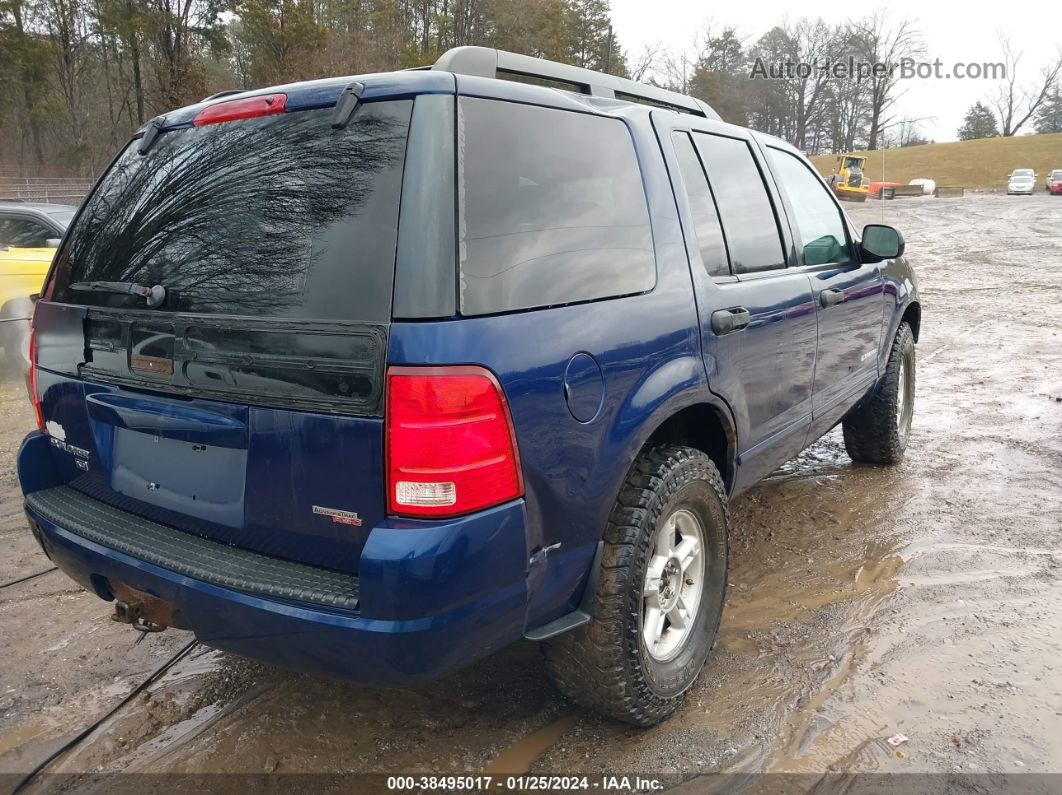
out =
{"type": "Polygon", "coordinates": [[[907,449],[913,417],[914,333],[902,323],[885,375],[842,422],[844,449],[860,464],[896,464],[907,449]]]}

